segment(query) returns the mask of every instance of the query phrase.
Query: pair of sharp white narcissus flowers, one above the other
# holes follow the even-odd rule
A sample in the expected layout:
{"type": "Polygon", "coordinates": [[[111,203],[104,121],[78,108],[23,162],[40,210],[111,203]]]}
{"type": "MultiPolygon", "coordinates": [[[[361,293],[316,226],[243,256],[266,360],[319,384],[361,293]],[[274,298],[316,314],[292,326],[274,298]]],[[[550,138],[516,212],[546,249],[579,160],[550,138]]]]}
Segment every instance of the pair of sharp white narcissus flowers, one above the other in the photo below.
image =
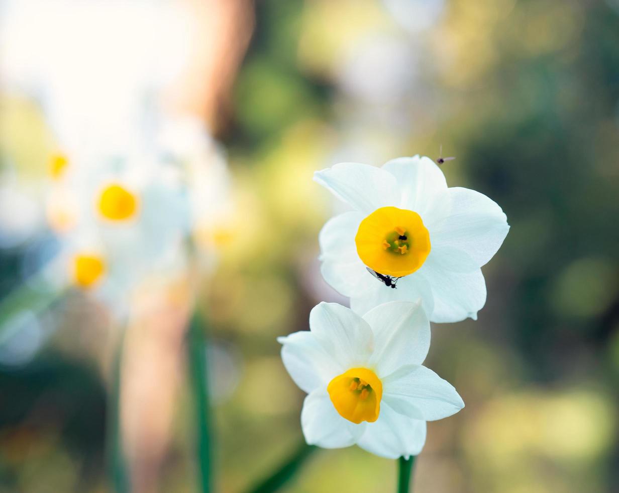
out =
{"type": "Polygon", "coordinates": [[[303,434],[325,448],[409,458],[423,448],[426,421],[464,407],[422,366],[430,321],[477,318],[481,267],[508,233],[506,216],[482,193],[448,188],[425,157],[381,168],[340,163],[314,179],[352,208],[319,235],[322,275],[351,309],[321,303],[309,332],[278,339],[288,373],[308,393],[303,434]]]}

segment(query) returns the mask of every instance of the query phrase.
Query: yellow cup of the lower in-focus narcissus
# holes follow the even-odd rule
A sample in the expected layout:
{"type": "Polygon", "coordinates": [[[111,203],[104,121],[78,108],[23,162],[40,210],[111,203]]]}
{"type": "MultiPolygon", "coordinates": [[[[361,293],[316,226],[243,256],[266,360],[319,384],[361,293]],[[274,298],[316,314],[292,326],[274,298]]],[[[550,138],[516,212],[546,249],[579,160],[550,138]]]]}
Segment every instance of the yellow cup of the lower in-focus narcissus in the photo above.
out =
{"type": "Polygon", "coordinates": [[[327,392],[335,410],[348,421],[360,424],[378,419],[383,384],[372,370],[351,368],[331,380],[327,392]]]}

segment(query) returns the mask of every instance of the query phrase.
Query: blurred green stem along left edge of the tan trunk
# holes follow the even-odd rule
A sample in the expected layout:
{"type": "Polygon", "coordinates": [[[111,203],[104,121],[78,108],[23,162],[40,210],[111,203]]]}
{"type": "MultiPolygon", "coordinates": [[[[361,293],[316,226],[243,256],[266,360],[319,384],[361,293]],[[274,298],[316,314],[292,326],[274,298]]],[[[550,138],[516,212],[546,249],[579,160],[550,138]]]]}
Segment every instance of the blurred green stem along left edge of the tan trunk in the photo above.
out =
{"type": "Polygon", "coordinates": [[[107,425],[107,455],[108,473],[113,491],[116,493],[129,493],[131,484],[127,471],[126,460],[123,451],[123,435],[120,414],[120,396],[123,364],[123,347],[125,330],[119,336],[118,347],[114,355],[112,366],[112,381],[110,397],[108,398],[108,425],[107,425]]]}

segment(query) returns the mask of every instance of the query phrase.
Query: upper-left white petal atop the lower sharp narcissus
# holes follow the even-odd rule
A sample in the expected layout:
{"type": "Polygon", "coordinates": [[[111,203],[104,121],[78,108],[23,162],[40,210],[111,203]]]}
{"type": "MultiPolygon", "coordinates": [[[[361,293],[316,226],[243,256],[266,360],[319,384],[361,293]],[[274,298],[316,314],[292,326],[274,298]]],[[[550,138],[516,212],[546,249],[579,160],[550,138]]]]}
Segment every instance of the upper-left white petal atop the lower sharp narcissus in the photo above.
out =
{"type": "Polygon", "coordinates": [[[350,308],[323,301],[309,313],[309,328],[344,370],[367,364],[374,344],[372,329],[350,308]]]}

